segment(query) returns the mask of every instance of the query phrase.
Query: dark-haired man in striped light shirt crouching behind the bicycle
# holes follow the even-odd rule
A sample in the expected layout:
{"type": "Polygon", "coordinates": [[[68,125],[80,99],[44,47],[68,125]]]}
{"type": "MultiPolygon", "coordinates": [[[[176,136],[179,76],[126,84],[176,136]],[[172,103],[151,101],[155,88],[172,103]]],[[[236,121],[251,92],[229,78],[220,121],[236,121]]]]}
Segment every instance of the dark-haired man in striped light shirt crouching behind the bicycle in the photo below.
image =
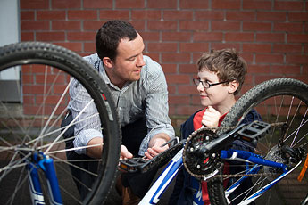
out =
{"type": "MultiPolygon", "coordinates": [[[[144,56],[144,49],[142,37],[129,22],[107,21],[97,31],[96,54],[85,57],[104,79],[116,104],[122,127],[121,159],[137,155],[152,159],[168,149],[168,145],[161,146],[174,137],[168,117],[168,91],[162,67],[144,56]]],[[[72,118],[76,118],[89,102],[87,94],[82,94],[82,89],[76,80],[71,83],[69,109],[72,118]]],[[[90,105],[79,119],[87,118],[95,110],[96,108],[91,108],[90,105]]],[[[103,146],[91,147],[103,143],[104,136],[100,131],[99,120],[88,119],[79,122],[74,127],[74,135],[75,148],[90,147],[78,149],[72,153],[74,157],[68,158],[101,157],[103,146]]],[[[75,171],[72,170],[74,176],[82,174],[75,171]]],[[[154,174],[123,174],[123,204],[137,203],[146,193],[154,174]],[[145,181],[146,179],[148,180],[145,181]]],[[[87,180],[85,181],[87,183],[87,180]]],[[[79,184],[78,186],[81,197],[85,197],[87,190],[82,190],[79,184]]]]}

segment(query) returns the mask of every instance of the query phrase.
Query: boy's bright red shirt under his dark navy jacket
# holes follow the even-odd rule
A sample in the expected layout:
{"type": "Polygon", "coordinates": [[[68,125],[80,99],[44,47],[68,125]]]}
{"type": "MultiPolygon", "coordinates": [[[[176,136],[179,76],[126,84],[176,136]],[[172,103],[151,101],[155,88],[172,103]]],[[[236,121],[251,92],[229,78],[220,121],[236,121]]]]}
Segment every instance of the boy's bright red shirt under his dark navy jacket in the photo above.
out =
{"type": "MultiPolygon", "coordinates": [[[[207,107],[206,107],[207,108],[207,107]]],[[[193,119],[194,122],[194,129],[197,130],[201,128],[202,125],[202,118],[204,116],[204,112],[206,111],[206,108],[202,111],[198,111],[193,119]]],[[[228,113],[228,112],[227,112],[228,113]]],[[[221,126],[222,119],[224,119],[227,115],[227,113],[223,114],[218,122],[218,126],[221,126]]],[[[209,194],[207,193],[207,184],[206,182],[202,182],[202,200],[204,201],[204,205],[210,204],[209,194]]]]}

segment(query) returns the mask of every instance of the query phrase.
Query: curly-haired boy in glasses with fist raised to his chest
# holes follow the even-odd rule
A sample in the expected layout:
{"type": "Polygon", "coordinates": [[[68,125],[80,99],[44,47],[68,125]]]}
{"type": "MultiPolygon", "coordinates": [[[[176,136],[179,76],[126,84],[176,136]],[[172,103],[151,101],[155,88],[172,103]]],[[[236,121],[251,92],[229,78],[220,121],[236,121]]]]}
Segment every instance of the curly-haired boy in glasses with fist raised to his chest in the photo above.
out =
{"type": "MultiPolygon", "coordinates": [[[[203,125],[219,127],[222,119],[237,102],[235,95],[239,93],[246,75],[246,61],[234,49],[204,53],[197,61],[197,68],[194,84],[204,110],[196,111],[181,125],[183,138],[187,138],[203,125]]],[[[256,111],[252,111],[249,116],[251,117],[246,122],[259,118],[256,111]]],[[[237,140],[232,144],[232,148],[251,151],[254,144],[237,140]]],[[[200,183],[190,176],[185,168],[181,168],[169,204],[193,204],[193,201],[194,204],[210,204],[206,183],[200,183]]]]}

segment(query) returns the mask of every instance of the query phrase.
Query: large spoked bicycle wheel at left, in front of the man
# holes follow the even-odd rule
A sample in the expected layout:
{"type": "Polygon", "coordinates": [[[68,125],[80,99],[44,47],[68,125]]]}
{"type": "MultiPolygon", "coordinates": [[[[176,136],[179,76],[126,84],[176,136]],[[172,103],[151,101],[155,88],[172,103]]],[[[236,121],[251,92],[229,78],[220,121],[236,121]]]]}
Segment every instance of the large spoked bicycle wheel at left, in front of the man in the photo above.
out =
{"type": "MultiPolygon", "coordinates": [[[[26,161],[31,160],[33,152],[43,152],[54,160],[64,204],[102,204],[114,182],[121,147],[117,114],[103,79],[78,54],[58,45],[41,42],[1,47],[0,77],[12,68],[21,76],[21,84],[15,84],[21,100],[11,102],[10,96],[3,94],[0,102],[1,203],[31,203],[26,161]],[[79,161],[66,158],[68,150],[65,143],[74,137],[62,137],[69,126],[61,128],[61,122],[68,112],[72,79],[78,80],[79,85],[83,86],[83,94],[92,99],[87,104],[94,104],[97,112],[88,115],[87,119],[76,118],[71,125],[79,123],[79,120],[95,119],[104,135],[101,159],[83,160],[88,164],[95,163],[96,170],[84,170],[79,168],[79,161]],[[82,199],[76,184],[86,184],[81,184],[79,178],[71,175],[71,166],[87,171],[94,178],[93,184],[86,187],[87,196],[82,199]]],[[[10,87],[6,89],[10,91],[10,87]]],[[[87,114],[87,109],[80,112],[87,114]]],[[[46,194],[47,184],[42,170],[39,176],[48,203],[51,199],[46,194]]]]}

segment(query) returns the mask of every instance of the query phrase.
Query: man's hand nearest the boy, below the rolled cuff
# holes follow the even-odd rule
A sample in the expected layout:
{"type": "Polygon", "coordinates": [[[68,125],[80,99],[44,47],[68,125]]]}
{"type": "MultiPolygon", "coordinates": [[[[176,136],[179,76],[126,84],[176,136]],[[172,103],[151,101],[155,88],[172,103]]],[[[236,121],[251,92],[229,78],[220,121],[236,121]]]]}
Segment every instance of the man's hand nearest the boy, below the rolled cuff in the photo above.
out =
{"type": "Polygon", "coordinates": [[[156,155],[158,155],[160,152],[163,152],[169,148],[169,145],[166,144],[162,147],[163,143],[167,143],[170,140],[169,135],[166,134],[158,134],[155,135],[150,143],[149,148],[145,152],[146,160],[151,160],[156,155]]]}

